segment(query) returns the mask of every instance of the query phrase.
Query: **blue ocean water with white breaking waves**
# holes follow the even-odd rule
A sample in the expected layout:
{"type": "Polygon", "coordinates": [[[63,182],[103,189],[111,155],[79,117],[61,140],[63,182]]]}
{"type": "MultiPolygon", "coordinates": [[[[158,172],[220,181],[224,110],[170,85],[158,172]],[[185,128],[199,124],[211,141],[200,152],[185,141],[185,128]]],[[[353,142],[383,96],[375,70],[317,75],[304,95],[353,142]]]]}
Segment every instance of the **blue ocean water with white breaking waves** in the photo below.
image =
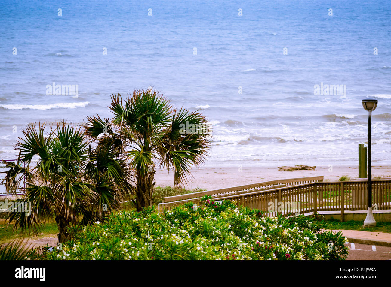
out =
{"type": "Polygon", "coordinates": [[[391,163],[387,0],[2,0],[0,27],[2,159],[29,123],[110,116],[111,93],[153,86],[208,117],[210,165],[357,164],[367,96],[373,164],[391,163]]]}

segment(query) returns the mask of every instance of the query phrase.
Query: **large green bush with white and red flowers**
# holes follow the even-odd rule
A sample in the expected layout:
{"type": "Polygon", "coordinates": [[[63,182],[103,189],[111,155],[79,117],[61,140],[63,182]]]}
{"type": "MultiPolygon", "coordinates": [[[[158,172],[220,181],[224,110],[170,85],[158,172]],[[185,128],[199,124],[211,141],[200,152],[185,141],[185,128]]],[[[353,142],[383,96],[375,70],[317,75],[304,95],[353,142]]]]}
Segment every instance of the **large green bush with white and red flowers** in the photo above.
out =
{"type": "Polygon", "coordinates": [[[322,232],[310,217],[263,217],[260,210],[187,203],[163,214],[152,208],[73,226],[72,239],[43,255],[49,260],[341,260],[346,238],[322,232]],[[331,247],[331,248],[330,248],[331,247]]]}

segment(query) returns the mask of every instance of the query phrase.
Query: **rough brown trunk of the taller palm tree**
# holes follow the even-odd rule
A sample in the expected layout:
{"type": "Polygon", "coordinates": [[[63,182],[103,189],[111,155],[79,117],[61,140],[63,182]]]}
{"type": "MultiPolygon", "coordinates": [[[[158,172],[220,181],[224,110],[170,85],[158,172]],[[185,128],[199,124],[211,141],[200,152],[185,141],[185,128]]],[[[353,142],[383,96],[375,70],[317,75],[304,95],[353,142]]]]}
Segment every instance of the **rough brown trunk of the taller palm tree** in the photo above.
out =
{"type": "Polygon", "coordinates": [[[136,186],[136,209],[141,211],[143,207],[152,207],[153,187],[156,182],[154,180],[155,171],[147,175],[138,175],[136,186]]]}

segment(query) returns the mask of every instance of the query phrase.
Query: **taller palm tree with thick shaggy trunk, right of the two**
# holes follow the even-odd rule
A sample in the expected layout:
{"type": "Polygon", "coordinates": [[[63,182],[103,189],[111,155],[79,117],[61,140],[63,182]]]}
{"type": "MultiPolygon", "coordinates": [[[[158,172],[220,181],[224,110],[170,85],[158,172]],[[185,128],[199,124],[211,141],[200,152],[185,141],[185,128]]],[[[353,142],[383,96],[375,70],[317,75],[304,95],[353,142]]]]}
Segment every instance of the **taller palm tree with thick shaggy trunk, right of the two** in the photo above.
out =
{"type": "Polygon", "coordinates": [[[135,171],[134,203],[140,211],[153,204],[156,167],[174,171],[176,187],[185,184],[190,167],[205,160],[210,130],[204,116],[173,108],[156,90],[135,90],[124,101],[120,93],[112,94],[111,101],[114,117],[88,118],[86,134],[101,145],[115,142],[126,155],[135,171]]]}

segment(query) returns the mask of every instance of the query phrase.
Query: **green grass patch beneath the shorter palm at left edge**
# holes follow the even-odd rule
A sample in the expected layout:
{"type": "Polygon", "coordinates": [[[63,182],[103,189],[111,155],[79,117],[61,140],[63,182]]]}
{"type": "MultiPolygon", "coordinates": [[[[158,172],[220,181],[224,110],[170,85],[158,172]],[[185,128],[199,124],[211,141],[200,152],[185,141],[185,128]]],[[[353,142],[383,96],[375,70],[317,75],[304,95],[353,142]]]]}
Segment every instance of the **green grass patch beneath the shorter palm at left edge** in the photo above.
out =
{"type": "Polygon", "coordinates": [[[14,239],[18,239],[18,238],[21,238],[21,237],[25,237],[25,238],[29,238],[29,239],[35,240],[35,239],[39,239],[39,238],[42,238],[42,237],[49,237],[49,236],[52,236],[52,235],[58,233],[58,229],[57,229],[57,224],[56,223],[46,223],[39,230],[38,237],[34,236],[32,233],[29,234],[28,231],[27,231],[26,234],[23,234],[23,233],[20,234],[19,230],[15,230],[13,232],[12,228],[14,227],[14,225],[10,224],[7,227],[7,224],[4,224],[4,223],[5,223],[4,221],[0,221],[0,242],[1,243],[10,242],[10,241],[12,241],[14,239]]]}

